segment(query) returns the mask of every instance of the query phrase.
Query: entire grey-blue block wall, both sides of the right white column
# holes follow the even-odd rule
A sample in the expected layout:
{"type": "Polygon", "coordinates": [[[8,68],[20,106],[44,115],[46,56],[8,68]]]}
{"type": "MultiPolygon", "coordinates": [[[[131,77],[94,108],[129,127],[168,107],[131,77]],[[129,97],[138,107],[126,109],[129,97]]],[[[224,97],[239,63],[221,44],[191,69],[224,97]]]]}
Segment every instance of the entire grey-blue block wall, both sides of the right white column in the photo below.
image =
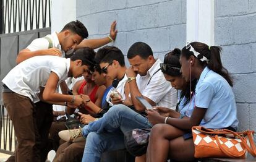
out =
{"type": "MultiPolygon", "coordinates": [[[[90,38],[108,35],[117,20],[113,45],[125,55],[132,43],[144,41],[163,61],[165,53],[186,43],[186,0],[77,0],[77,19],[90,38]]],[[[241,130],[256,130],[255,28],[255,0],[215,0],[215,45],[223,47],[224,67],[234,78],[241,130]]]]}

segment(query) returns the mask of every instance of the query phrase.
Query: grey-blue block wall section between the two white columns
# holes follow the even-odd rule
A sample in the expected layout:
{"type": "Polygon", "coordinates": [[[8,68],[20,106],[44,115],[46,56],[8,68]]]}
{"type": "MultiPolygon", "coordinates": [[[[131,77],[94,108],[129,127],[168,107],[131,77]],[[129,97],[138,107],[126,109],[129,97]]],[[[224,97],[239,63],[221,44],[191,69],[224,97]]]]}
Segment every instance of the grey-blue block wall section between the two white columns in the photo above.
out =
{"type": "Polygon", "coordinates": [[[133,43],[144,41],[163,61],[169,50],[186,45],[185,0],[77,0],[77,19],[88,28],[90,38],[108,35],[116,20],[113,45],[125,55],[133,43]]]}

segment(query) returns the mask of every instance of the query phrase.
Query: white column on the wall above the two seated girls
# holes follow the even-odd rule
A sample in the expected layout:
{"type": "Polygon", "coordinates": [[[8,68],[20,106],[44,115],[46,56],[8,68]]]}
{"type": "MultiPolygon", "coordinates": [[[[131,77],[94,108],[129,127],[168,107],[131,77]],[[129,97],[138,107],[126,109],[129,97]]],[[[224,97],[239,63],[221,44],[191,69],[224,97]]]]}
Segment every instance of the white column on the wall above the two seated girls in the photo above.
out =
{"type": "Polygon", "coordinates": [[[214,45],[214,0],[187,1],[187,42],[214,45]]]}

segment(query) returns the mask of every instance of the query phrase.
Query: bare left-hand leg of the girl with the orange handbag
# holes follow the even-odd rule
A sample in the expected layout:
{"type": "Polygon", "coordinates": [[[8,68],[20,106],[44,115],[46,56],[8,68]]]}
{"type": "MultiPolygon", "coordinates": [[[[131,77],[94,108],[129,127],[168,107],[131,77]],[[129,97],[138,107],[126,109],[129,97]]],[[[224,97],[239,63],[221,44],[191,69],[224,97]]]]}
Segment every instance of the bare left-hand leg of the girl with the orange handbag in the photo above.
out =
{"type": "Polygon", "coordinates": [[[168,124],[153,126],[148,143],[147,161],[166,161],[169,154],[169,141],[183,134],[183,130],[168,124]]]}

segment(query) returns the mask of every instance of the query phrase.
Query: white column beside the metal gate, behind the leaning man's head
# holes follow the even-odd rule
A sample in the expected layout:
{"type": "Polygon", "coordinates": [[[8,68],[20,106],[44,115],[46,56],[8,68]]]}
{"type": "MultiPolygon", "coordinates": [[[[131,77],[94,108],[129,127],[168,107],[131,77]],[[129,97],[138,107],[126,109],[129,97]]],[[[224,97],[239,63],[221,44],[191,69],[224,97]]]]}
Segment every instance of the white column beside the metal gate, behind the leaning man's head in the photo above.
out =
{"type": "Polygon", "coordinates": [[[60,32],[66,23],[74,20],[75,0],[51,0],[51,32],[60,32]]]}

